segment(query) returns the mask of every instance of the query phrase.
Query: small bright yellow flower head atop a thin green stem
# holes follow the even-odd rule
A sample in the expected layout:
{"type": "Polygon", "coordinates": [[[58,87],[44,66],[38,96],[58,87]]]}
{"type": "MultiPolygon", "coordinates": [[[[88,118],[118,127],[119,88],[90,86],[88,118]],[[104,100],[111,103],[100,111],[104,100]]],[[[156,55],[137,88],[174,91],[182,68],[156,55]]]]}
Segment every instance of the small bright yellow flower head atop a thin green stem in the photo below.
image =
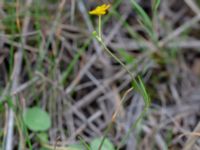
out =
{"type": "Polygon", "coordinates": [[[110,8],[110,4],[103,4],[101,6],[97,6],[95,9],[91,10],[89,12],[90,15],[97,15],[97,16],[101,16],[101,15],[105,15],[107,10],[110,8]]]}

